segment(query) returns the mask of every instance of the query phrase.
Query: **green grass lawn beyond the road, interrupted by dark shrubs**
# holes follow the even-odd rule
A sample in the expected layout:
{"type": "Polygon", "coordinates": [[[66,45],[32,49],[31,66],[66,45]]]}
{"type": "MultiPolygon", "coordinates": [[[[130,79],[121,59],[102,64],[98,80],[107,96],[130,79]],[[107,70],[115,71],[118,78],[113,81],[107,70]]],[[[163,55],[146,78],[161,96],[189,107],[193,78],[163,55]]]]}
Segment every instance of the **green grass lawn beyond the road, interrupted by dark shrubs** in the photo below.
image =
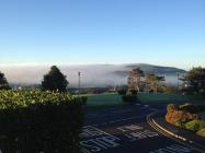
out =
{"type": "MultiPolygon", "coordinates": [[[[138,98],[140,103],[174,103],[174,102],[194,102],[200,99],[198,96],[178,95],[178,94],[163,94],[163,93],[139,93],[138,98]]],[[[122,97],[118,94],[96,94],[88,95],[87,106],[89,107],[107,107],[107,106],[122,106],[122,97]]]]}

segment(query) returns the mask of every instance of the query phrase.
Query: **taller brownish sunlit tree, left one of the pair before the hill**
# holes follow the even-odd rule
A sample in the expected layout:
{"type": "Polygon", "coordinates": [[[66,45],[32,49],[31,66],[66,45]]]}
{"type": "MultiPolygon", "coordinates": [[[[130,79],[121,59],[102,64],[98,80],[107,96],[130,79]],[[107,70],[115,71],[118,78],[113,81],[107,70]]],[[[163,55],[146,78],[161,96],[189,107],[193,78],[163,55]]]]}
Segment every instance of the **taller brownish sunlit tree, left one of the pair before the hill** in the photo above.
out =
{"type": "Polygon", "coordinates": [[[129,72],[129,75],[128,75],[128,90],[129,91],[139,92],[139,86],[141,83],[143,75],[144,75],[144,71],[141,71],[139,68],[134,69],[129,72]]]}

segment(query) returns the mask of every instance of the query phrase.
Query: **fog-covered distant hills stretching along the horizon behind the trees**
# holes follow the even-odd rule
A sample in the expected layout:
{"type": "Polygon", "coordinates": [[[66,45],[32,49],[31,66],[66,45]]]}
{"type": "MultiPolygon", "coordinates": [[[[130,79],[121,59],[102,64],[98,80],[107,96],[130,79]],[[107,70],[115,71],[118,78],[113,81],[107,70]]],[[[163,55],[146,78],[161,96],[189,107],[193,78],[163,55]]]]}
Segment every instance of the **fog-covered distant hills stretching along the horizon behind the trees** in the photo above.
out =
{"type": "MultiPolygon", "coordinates": [[[[90,64],[90,66],[59,66],[67,75],[70,87],[78,86],[78,72],[81,72],[81,85],[84,87],[103,87],[109,85],[127,84],[128,71],[140,68],[145,73],[156,73],[166,76],[168,84],[176,84],[176,73],[185,73],[184,70],[172,67],[160,67],[145,63],[132,64],[90,64]]],[[[43,75],[50,66],[0,66],[8,81],[14,84],[41,84],[43,75]]]]}

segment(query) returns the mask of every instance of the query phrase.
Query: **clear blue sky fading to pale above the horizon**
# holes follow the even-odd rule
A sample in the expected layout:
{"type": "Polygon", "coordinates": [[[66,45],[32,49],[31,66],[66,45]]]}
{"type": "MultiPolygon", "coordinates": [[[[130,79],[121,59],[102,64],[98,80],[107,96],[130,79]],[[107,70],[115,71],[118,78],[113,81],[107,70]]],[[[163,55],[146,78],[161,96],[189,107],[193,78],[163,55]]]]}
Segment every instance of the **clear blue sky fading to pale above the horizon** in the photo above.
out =
{"type": "Polygon", "coordinates": [[[204,59],[204,0],[0,0],[0,64],[204,59]]]}

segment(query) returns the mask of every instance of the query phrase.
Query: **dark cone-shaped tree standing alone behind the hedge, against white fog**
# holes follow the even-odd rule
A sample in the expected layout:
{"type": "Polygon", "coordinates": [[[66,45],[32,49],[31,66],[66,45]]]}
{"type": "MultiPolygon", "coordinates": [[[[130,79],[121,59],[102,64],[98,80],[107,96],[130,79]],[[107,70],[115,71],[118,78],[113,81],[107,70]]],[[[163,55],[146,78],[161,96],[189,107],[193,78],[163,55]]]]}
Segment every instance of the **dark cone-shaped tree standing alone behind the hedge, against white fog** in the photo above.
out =
{"type": "Polygon", "coordinates": [[[65,92],[68,84],[66,75],[56,66],[50,68],[50,71],[44,75],[42,81],[43,89],[49,91],[65,92]]]}

